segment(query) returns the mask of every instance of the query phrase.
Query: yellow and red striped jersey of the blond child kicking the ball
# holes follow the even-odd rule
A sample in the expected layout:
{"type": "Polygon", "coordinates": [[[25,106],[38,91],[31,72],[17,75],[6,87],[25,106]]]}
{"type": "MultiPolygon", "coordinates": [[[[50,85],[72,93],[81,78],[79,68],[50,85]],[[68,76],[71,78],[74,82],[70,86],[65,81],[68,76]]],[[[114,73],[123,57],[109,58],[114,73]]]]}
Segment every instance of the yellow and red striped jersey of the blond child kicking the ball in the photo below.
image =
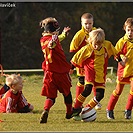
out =
{"type": "Polygon", "coordinates": [[[87,82],[104,83],[107,72],[108,59],[117,56],[118,52],[110,41],[105,40],[102,48],[94,50],[92,44],[82,47],[71,59],[76,67],[84,67],[87,82]]]}

